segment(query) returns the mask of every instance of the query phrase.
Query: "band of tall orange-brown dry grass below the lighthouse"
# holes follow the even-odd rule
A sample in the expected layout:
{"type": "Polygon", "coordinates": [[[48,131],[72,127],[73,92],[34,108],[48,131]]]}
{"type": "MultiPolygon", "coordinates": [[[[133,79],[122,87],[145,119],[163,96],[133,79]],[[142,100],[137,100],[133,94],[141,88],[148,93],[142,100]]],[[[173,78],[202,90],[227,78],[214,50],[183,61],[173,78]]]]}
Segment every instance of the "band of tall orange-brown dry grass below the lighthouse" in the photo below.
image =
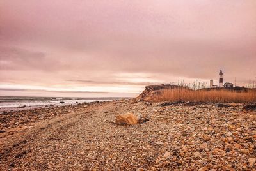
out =
{"type": "Polygon", "coordinates": [[[152,101],[191,101],[201,103],[251,103],[256,101],[256,91],[228,91],[225,89],[198,90],[164,89],[152,101]]]}

